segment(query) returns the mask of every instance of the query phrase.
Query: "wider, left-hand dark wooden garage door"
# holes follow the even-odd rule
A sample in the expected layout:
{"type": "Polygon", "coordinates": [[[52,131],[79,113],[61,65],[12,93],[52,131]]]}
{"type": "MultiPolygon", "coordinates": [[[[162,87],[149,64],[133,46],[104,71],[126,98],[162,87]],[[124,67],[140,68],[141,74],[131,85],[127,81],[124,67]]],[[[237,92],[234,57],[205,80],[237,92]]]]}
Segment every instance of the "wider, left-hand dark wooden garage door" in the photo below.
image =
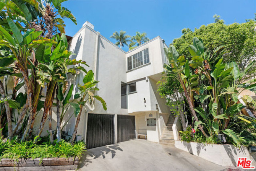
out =
{"type": "Polygon", "coordinates": [[[86,147],[114,144],[114,115],[88,114],[86,147]]]}

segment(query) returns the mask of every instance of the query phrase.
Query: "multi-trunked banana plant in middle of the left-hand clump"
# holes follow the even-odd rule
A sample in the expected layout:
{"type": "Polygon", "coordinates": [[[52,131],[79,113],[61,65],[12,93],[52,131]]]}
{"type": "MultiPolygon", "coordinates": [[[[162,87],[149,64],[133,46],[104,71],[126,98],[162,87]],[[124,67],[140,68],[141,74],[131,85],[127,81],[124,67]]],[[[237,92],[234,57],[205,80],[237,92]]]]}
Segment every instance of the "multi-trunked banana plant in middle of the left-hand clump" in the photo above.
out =
{"type": "MultiPolygon", "coordinates": [[[[39,130],[37,132],[37,136],[41,135],[44,124],[46,122],[46,118],[48,116],[49,119],[49,133],[50,133],[50,141],[53,142],[53,131],[52,131],[52,106],[54,93],[56,92],[56,104],[57,104],[57,138],[60,140],[60,126],[63,120],[63,115],[60,115],[60,101],[63,100],[63,92],[61,90],[65,90],[65,86],[67,83],[67,75],[76,75],[78,70],[86,70],[82,66],[76,66],[77,64],[85,65],[86,62],[81,60],[70,60],[69,56],[71,52],[68,51],[68,42],[65,34],[59,36],[58,34],[54,36],[54,39],[58,44],[54,45],[52,48],[51,45],[40,45],[36,52],[36,58],[40,62],[39,68],[41,69],[42,74],[46,73],[47,86],[46,86],[46,97],[44,103],[44,112],[43,117],[40,123],[39,130]],[[75,66],[74,66],[75,65],[75,66]],[[72,67],[71,67],[72,66],[72,67]],[[64,86],[64,87],[63,87],[64,86]],[[61,98],[62,97],[62,98],[61,98]],[[48,114],[49,113],[49,114],[48,114]]],[[[70,89],[70,92],[72,92],[70,89]]],[[[62,113],[63,109],[65,109],[65,105],[69,102],[70,96],[67,94],[65,101],[62,103],[62,113]]],[[[71,103],[71,106],[77,108],[75,103],[71,103]]],[[[32,129],[31,129],[32,130],[32,129]]]]}

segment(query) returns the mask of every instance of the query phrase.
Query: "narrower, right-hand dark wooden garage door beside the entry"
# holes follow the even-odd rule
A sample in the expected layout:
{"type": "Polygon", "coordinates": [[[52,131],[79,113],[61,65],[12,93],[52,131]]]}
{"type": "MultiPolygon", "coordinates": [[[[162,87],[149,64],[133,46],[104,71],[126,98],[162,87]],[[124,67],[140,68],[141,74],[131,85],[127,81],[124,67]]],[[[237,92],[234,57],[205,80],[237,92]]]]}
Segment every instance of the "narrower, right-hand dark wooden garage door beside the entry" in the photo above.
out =
{"type": "Polygon", "coordinates": [[[135,116],[117,116],[117,142],[135,139],[135,116]]]}

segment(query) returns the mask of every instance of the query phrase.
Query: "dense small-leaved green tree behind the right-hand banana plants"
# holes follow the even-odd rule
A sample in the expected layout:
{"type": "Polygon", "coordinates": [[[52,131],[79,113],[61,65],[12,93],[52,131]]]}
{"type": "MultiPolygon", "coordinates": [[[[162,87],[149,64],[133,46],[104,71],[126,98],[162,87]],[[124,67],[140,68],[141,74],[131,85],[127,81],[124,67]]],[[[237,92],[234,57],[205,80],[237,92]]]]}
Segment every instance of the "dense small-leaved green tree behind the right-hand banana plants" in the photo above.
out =
{"type": "MultiPolygon", "coordinates": [[[[193,43],[193,37],[203,40],[205,48],[213,53],[214,49],[224,46],[223,62],[237,62],[238,67],[244,71],[256,55],[256,31],[255,20],[247,20],[245,23],[233,23],[227,25],[220,16],[215,15],[215,23],[202,25],[192,31],[189,28],[182,29],[182,36],[174,39],[172,44],[180,55],[191,59],[188,46],[193,43]]],[[[249,74],[255,74],[256,67],[249,74]]],[[[248,74],[248,76],[249,76],[248,74]]]]}

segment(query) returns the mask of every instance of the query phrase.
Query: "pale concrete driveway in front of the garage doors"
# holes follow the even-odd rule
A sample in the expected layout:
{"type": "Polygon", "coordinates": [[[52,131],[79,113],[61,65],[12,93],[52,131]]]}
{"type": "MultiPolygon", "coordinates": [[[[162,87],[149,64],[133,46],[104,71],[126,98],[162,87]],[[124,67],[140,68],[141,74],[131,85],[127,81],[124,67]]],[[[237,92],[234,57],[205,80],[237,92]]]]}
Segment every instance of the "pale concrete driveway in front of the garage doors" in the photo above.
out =
{"type": "Polygon", "coordinates": [[[88,149],[78,168],[80,168],[79,171],[221,171],[227,169],[174,146],[152,143],[144,139],[88,149]]]}

